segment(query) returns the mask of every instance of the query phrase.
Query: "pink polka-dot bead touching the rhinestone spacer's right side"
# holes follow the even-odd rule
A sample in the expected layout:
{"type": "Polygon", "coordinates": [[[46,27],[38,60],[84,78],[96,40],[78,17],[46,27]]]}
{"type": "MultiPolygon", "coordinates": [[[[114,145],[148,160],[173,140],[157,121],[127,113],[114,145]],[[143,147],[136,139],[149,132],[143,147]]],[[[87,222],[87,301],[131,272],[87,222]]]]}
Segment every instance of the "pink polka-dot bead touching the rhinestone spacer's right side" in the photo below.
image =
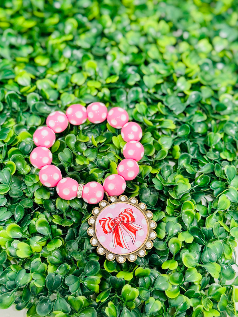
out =
{"type": "Polygon", "coordinates": [[[89,182],[83,186],[82,198],[86,203],[97,204],[103,199],[104,189],[98,182],[89,182]]]}

